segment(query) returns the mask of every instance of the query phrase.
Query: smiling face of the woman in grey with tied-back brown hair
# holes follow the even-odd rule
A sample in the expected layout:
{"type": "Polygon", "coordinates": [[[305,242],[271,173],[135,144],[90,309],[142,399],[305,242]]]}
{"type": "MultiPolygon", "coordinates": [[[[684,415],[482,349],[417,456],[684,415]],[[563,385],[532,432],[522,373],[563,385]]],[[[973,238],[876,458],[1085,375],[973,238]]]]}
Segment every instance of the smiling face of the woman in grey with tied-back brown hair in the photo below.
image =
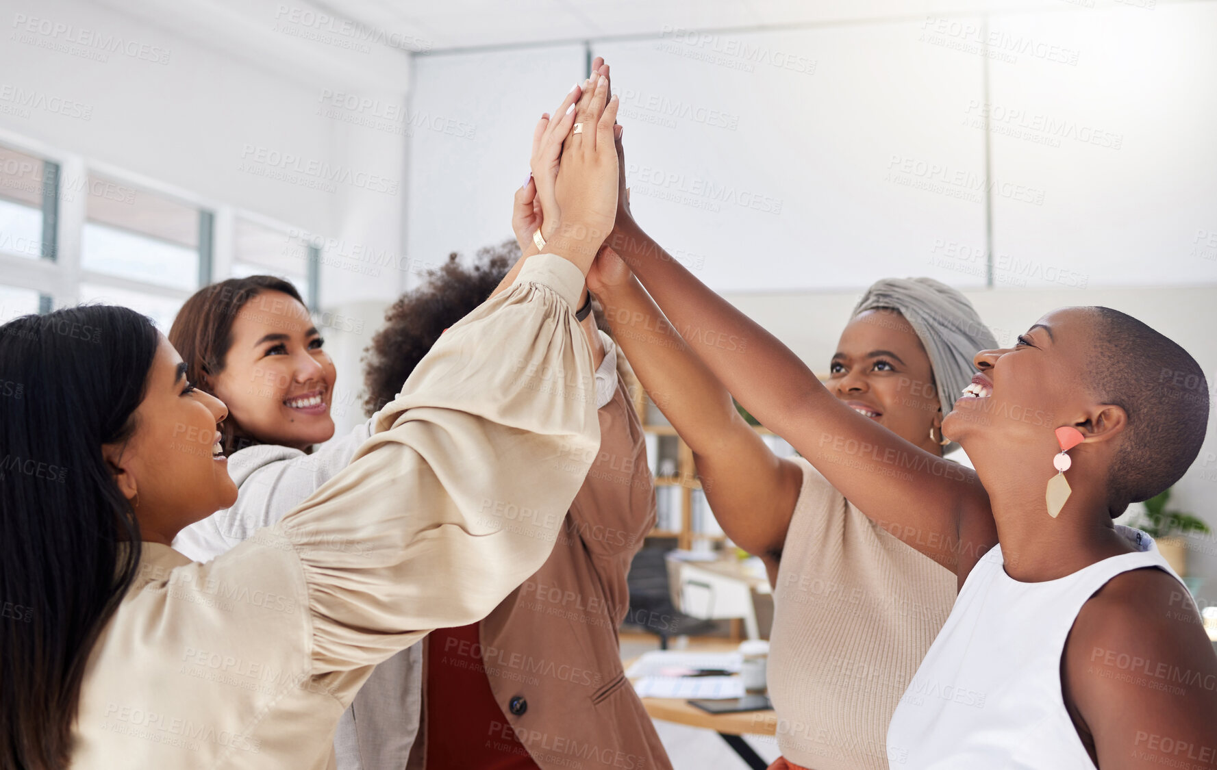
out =
{"type": "Polygon", "coordinates": [[[237,313],[231,336],[211,386],[239,434],[302,450],[329,440],[337,372],[304,305],[282,292],[260,292],[237,313]]]}

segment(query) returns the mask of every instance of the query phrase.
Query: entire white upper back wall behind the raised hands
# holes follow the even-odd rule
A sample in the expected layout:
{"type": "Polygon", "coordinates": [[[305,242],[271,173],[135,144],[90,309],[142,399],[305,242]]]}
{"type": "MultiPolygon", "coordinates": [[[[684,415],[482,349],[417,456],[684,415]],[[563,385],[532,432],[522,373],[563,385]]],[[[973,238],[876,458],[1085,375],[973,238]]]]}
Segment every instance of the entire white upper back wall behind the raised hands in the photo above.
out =
{"type": "MultiPolygon", "coordinates": [[[[914,274],[983,286],[987,206],[999,286],[1177,286],[1217,282],[1217,89],[1196,86],[1217,72],[1215,34],[1217,2],[1201,0],[591,49],[623,99],[635,215],[714,288],[914,274]]],[[[553,55],[419,57],[415,106],[476,114],[494,139],[493,153],[415,145],[411,248],[472,251],[509,234],[523,169],[509,158],[566,83],[546,91],[534,74],[553,55]],[[488,100],[459,95],[476,72],[492,73],[488,100]]],[[[546,66],[582,72],[570,58],[546,66]]]]}

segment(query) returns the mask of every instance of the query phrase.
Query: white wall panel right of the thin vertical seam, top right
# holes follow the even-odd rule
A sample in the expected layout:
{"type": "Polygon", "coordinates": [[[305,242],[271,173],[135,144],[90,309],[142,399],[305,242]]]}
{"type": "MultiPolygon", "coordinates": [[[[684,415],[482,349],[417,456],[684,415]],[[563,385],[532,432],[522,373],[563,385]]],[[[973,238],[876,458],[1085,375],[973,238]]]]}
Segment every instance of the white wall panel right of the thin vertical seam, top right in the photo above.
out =
{"type": "Polygon", "coordinates": [[[1217,2],[1002,23],[1077,51],[1076,66],[992,64],[994,128],[1011,129],[992,134],[994,164],[1044,190],[1043,206],[994,198],[1008,285],[1217,282],[1217,2]],[[1059,133],[1034,128],[1049,122],[1059,133]],[[1014,135],[1020,127],[1030,136],[1014,135]],[[1033,141],[1043,137],[1060,145],[1033,141]]]}

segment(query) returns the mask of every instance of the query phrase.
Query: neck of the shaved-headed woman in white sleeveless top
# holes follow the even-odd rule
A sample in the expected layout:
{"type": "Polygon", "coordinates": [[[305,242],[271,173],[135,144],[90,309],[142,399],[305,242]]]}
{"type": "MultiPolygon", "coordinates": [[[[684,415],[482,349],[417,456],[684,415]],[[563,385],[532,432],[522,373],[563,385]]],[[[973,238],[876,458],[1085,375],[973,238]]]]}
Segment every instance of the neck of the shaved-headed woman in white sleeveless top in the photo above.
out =
{"type": "Polygon", "coordinates": [[[1005,573],[1015,580],[1055,580],[1131,551],[1116,533],[1101,485],[1084,483],[1086,468],[1078,465],[1065,474],[1073,491],[1056,518],[1048,515],[1044,501],[1048,480],[1056,474],[1050,467],[981,478],[993,506],[1005,573]]]}

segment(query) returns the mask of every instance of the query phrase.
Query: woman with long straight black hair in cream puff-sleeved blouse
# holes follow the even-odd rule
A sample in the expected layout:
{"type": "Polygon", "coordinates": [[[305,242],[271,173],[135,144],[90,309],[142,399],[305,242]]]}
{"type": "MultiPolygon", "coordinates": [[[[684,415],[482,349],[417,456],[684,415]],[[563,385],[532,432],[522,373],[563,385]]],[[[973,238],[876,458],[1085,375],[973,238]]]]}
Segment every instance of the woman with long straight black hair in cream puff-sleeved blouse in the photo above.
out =
{"type": "MultiPolygon", "coordinates": [[[[559,142],[594,127],[560,172],[574,232],[611,226],[616,109],[601,86],[555,125],[559,142]]],[[[32,609],[0,635],[4,764],[332,766],[376,663],[484,617],[549,556],[599,426],[582,392],[544,380],[591,378],[574,303],[600,240],[529,259],[444,335],[347,468],[206,564],[169,544],[236,496],[224,405],[130,310],[0,327],[0,377],[27,386],[0,399],[0,597],[32,609]]]]}

